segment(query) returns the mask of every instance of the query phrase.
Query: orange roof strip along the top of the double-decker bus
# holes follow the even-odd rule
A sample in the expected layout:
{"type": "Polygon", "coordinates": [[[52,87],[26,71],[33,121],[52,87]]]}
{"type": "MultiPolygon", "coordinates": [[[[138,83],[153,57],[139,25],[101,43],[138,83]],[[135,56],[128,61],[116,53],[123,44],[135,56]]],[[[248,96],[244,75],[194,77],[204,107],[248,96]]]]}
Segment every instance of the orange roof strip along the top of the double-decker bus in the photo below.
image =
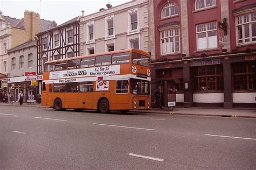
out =
{"type": "Polygon", "coordinates": [[[149,53],[142,51],[141,49],[136,49],[136,48],[130,48],[130,49],[120,49],[117,51],[111,51],[111,52],[103,52],[103,53],[96,53],[96,54],[89,54],[89,55],[81,55],[81,56],[74,56],[72,58],[66,58],[66,59],[58,59],[58,60],[51,60],[51,61],[46,61],[46,63],[52,63],[52,62],[60,62],[60,61],[68,61],[68,60],[74,60],[74,59],[80,59],[80,58],[87,58],[90,56],[99,56],[99,55],[106,55],[106,54],[112,54],[112,53],[122,53],[122,52],[138,52],[147,56],[150,56],[149,53]]]}

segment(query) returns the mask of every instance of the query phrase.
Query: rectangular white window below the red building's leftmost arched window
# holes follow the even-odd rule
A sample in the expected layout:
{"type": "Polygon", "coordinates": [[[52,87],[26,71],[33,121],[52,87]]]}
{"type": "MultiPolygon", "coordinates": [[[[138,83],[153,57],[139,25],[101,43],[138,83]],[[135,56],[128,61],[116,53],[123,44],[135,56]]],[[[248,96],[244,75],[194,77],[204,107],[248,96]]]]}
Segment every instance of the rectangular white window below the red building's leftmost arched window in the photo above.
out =
{"type": "Polygon", "coordinates": [[[179,53],[179,29],[161,32],[161,55],[179,53]]]}

